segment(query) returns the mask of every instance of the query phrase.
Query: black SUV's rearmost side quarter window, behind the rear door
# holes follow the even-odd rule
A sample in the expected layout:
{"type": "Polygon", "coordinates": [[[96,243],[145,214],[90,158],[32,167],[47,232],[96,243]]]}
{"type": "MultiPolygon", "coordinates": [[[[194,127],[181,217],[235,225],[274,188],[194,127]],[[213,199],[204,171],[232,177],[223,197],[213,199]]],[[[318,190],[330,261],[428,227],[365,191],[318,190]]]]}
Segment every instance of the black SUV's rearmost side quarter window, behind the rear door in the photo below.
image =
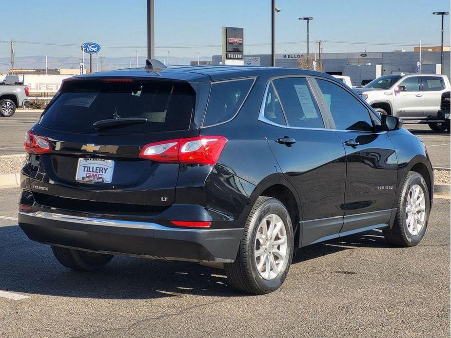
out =
{"type": "Polygon", "coordinates": [[[247,78],[213,82],[202,126],[213,126],[234,118],[254,81],[254,78],[247,78]]]}

